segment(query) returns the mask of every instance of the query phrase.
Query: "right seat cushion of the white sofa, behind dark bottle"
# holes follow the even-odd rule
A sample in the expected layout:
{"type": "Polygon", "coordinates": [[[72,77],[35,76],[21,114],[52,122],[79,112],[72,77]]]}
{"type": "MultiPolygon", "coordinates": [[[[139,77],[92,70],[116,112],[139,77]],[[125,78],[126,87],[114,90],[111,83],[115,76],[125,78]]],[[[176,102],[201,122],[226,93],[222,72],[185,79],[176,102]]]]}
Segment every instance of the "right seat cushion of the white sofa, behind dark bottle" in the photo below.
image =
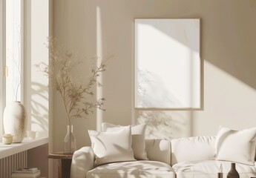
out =
{"type": "MultiPolygon", "coordinates": [[[[174,168],[177,178],[216,178],[217,173],[220,172],[220,164],[223,167],[223,177],[226,177],[231,168],[231,162],[215,160],[180,162],[173,165],[172,168],[174,168]]],[[[256,166],[236,163],[236,169],[240,178],[256,177],[256,166]]]]}

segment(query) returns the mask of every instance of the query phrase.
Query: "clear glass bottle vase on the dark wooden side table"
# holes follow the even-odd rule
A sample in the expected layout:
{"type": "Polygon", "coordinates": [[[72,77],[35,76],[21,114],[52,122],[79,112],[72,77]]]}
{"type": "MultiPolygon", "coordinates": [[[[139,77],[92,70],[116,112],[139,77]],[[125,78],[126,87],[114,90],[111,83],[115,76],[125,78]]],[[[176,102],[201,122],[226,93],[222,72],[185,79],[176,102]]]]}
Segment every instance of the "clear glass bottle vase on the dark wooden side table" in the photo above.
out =
{"type": "Polygon", "coordinates": [[[73,125],[68,125],[68,133],[63,142],[64,154],[73,154],[76,151],[76,137],[73,134],[73,125]]]}

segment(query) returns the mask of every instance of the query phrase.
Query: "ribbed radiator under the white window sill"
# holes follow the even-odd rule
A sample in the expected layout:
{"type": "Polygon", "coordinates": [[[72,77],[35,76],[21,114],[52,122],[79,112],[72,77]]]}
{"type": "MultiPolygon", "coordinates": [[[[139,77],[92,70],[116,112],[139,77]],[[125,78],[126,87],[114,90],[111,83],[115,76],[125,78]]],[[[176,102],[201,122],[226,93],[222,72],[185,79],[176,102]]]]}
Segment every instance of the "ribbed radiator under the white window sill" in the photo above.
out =
{"type": "Polygon", "coordinates": [[[0,178],[10,178],[16,168],[27,167],[27,151],[0,159],[0,178]]]}

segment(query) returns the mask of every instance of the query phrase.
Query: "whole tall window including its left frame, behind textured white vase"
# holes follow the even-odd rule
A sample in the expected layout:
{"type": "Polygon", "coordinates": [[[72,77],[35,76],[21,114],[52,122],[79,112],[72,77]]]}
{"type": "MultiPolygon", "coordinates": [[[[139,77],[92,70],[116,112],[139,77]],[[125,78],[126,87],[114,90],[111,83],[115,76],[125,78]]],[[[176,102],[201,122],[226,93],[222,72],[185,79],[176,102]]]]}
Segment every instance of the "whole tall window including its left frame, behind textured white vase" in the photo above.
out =
{"type": "MultiPolygon", "coordinates": [[[[1,0],[1,119],[4,106],[22,102],[22,0],[1,0]]],[[[0,127],[0,133],[3,133],[0,127]]]]}

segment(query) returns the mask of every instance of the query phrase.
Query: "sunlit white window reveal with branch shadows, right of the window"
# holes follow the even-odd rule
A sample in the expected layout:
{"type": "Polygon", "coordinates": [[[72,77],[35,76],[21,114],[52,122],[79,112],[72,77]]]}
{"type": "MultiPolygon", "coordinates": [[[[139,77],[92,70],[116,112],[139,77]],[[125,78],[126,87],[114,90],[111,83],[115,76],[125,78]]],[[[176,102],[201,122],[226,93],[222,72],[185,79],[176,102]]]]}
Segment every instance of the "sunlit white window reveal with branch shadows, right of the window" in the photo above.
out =
{"type": "Polygon", "coordinates": [[[45,46],[49,36],[49,3],[48,1],[27,2],[27,39],[25,75],[27,101],[25,107],[31,126],[27,130],[37,131],[37,136],[49,135],[49,81],[36,69],[35,65],[43,62],[48,65],[49,50],[45,46]],[[29,13],[30,12],[30,13],[29,13]],[[30,80],[31,79],[31,80],[30,80]]]}

